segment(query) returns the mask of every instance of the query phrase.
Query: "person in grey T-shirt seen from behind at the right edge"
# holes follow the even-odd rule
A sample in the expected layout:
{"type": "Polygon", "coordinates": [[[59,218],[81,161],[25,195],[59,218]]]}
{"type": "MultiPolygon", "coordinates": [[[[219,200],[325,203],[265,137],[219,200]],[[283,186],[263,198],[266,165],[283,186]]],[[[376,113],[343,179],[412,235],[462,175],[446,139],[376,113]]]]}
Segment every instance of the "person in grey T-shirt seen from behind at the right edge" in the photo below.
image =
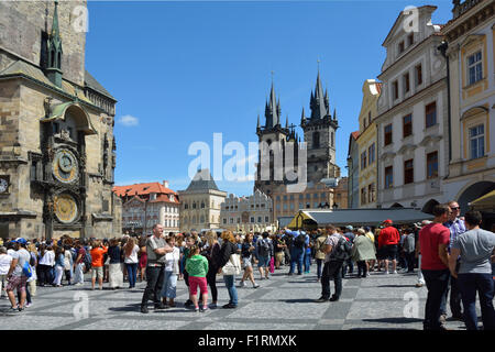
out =
{"type": "Polygon", "coordinates": [[[476,292],[480,297],[483,330],[495,330],[494,279],[491,265],[495,233],[480,229],[482,215],[479,211],[468,211],[464,218],[469,231],[458,234],[450,246],[450,273],[459,284],[468,330],[477,330],[476,292]],[[460,265],[458,257],[461,258],[460,265]]]}

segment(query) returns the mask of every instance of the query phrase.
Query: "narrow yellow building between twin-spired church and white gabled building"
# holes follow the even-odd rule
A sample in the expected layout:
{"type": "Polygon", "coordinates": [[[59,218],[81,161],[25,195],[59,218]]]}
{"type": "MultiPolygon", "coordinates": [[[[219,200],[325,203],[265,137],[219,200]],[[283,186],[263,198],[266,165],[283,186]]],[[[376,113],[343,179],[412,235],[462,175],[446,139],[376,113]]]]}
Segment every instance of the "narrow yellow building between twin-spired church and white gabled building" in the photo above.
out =
{"type": "Polygon", "coordinates": [[[366,79],[363,84],[363,102],[360,112],[360,134],[356,140],[359,148],[359,208],[376,207],[377,185],[377,133],[374,119],[377,117],[377,101],[382,84],[366,79]]]}

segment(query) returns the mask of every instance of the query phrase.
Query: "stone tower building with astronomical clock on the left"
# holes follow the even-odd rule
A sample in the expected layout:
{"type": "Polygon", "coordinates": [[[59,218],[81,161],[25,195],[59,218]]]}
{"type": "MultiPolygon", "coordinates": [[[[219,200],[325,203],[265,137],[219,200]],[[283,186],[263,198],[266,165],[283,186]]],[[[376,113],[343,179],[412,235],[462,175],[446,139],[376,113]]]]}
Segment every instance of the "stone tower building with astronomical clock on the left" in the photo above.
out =
{"type": "Polygon", "coordinates": [[[85,69],[75,7],[86,1],[0,3],[1,237],[121,233],[117,100],[85,69]]]}

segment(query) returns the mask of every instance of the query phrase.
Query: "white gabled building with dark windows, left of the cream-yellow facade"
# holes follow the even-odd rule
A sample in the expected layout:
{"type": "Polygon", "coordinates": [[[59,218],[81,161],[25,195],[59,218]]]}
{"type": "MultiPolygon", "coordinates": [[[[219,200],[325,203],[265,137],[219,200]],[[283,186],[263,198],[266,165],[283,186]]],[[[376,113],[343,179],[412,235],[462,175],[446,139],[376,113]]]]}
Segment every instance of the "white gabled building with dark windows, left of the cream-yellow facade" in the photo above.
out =
{"type": "Polygon", "coordinates": [[[378,79],[377,207],[430,211],[447,201],[447,65],[438,46],[441,26],[431,24],[437,7],[417,9],[417,28],[402,12],[382,44],[387,51],[378,79]]]}

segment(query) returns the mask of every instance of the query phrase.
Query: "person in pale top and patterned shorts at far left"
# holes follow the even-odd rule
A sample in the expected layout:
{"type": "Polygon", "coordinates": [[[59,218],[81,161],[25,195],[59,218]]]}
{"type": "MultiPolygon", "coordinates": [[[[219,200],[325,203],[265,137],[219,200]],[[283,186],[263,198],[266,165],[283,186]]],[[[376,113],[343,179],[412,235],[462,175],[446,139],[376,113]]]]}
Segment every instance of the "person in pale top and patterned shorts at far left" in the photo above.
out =
{"type": "Polygon", "coordinates": [[[18,239],[14,243],[14,252],[10,255],[12,256],[12,262],[10,264],[9,272],[7,273],[7,295],[11,304],[10,311],[23,311],[24,304],[26,299],[26,284],[28,276],[25,275],[23,267],[24,264],[30,262],[31,255],[25,250],[28,241],[25,239],[18,239]],[[16,290],[20,295],[20,299],[16,302],[13,290],[16,290]]]}

